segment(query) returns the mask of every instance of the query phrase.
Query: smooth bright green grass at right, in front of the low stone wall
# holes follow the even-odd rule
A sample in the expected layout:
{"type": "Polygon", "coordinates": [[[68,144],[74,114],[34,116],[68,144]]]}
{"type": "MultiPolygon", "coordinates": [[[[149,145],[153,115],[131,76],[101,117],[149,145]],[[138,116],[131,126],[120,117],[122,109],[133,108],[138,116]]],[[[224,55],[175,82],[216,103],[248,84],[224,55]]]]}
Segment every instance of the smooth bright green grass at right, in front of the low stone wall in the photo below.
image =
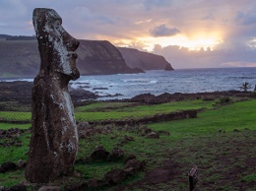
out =
{"type": "Polygon", "coordinates": [[[182,121],[168,121],[158,124],[149,124],[158,130],[170,131],[177,139],[186,135],[216,133],[219,130],[232,131],[249,128],[256,130],[256,99],[235,102],[215,110],[199,112],[195,119],[182,121]]]}

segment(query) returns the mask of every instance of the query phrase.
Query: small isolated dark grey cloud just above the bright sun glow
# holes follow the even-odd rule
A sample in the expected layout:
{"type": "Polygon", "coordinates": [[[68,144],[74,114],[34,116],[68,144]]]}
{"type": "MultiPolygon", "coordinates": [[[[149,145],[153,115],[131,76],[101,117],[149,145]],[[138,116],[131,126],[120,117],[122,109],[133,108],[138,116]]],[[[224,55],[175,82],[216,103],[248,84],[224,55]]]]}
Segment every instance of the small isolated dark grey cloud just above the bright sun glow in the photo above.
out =
{"type": "Polygon", "coordinates": [[[165,25],[160,25],[152,29],[150,32],[153,36],[159,37],[159,36],[172,36],[179,33],[180,31],[177,30],[176,28],[167,28],[165,25]]]}

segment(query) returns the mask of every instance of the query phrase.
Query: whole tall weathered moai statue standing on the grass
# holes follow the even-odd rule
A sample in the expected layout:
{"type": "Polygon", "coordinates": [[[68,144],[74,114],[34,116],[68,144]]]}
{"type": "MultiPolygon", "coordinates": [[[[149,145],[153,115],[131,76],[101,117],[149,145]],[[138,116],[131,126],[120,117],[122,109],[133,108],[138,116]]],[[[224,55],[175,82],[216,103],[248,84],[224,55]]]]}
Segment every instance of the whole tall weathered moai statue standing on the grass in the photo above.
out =
{"type": "Polygon", "coordinates": [[[74,52],[79,41],[63,29],[52,9],[34,9],[32,23],[41,63],[32,87],[32,139],[25,176],[33,183],[47,183],[71,172],[78,151],[68,83],[80,77],[74,52]]]}

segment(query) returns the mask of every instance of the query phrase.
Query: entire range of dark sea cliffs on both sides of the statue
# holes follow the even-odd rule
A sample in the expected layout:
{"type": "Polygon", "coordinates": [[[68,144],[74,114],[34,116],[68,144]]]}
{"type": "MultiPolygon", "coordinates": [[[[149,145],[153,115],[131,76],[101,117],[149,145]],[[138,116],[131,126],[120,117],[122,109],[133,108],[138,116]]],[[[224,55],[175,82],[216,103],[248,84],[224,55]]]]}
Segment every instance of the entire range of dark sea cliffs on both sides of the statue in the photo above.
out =
{"type": "MultiPolygon", "coordinates": [[[[116,48],[105,40],[80,40],[76,52],[81,75],[140,73],[143,70],[163,70],[168,64],[162,56],[136,49],[116,48]]],[[[39,65],[37,40],[0,38],[1,78],[34,77],[39,65]]]]}

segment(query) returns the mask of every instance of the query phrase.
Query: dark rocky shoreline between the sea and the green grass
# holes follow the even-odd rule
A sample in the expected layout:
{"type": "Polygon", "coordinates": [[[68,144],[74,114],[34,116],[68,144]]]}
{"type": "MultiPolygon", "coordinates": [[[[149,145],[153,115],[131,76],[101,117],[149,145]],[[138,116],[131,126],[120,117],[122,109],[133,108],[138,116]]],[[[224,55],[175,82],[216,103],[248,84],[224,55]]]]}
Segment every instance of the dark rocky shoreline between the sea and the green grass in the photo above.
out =
{"type": "MultiPolygon", "coordinates": [[[[96,100],[98,96],[95,93],[85,91],[84,89],[70,89],[70,95],[75,105],[79,105],[81,100],[96,100]]],[[[109,95],[110,97],[111,95],[109,95]]],[[[118,95],[112,95],[118,96],[118,95]]],[[[169,101],[179,101],[188,99],[199,99],[203,98],[213,99],[224,96],[237,96],[237,97],[250,97],[251,92],[239,92],[239,91],[223,91],[223,92],[212,92],[212,93],[196,93],[196,94],[168,94],[163,93],[159,96],[152,94],[143,94],[125,99],[112,99],[107,101],[131,101],[131,102],[142,102],[147,104],[159,104],[169,101]]],[[[0,82],[0,102],[4,101],[18,101],[21,104],[31,104],[32,100],[32,82],[26,81],[13,81],[13,82],[0,82]]],[[[5,110],[0,105],[0,110],[5,110]]]]}

